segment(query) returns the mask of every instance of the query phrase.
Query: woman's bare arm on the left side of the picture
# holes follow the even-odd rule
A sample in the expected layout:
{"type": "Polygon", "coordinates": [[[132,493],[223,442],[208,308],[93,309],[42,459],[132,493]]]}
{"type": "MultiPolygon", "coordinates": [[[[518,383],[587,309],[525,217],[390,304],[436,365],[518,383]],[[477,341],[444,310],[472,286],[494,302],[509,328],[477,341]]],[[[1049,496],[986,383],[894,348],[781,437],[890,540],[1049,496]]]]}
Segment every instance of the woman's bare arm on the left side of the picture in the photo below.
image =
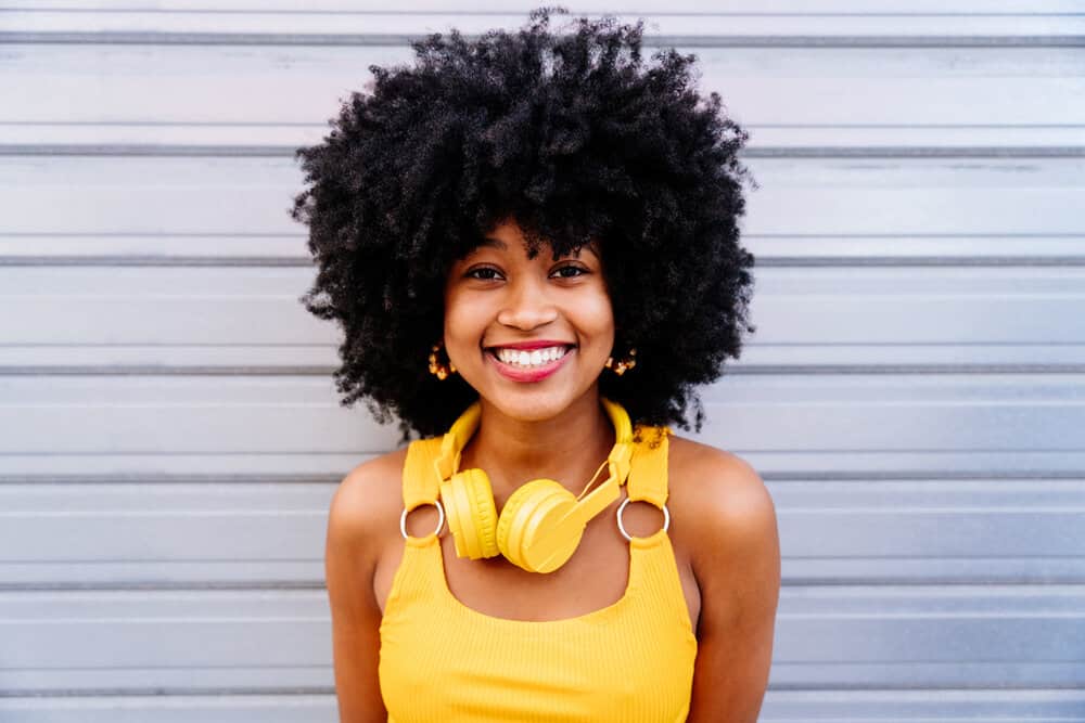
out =
{"type": "Polygon", "coordinates": [[[340,723],[387,721],[378,679],[381,608],[373,593],[380,532],[387,525],[382,519],[386,505],[378,503],[387,496],[387,466],[379,459],[350,472],[335,491],[328,515],[324,576],[340,723]]]}

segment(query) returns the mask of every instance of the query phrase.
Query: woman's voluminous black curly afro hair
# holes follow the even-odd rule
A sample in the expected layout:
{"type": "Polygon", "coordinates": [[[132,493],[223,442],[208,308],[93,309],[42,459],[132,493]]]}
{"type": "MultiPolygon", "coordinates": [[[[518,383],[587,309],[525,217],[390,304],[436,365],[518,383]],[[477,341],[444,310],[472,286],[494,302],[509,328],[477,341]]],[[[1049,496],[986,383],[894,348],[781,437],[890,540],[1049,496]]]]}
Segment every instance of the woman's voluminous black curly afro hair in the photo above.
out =
{"type": "Polygon", "coordinates": [[[449,267],[505,220],[532,258],[599,243],[614,356],[637,350],[600,391],[635,424],[689,429],[692,404],[700,430],[693,386],[756,330],[754,257],[738,243],[748,133],[717,93],[691,87],[695,55],[660,50],[643,67],[643,21],[582,17],[551,33],[551,12],[567,10],[471,42],[456,29],[411,42],[413,65],[369,66],[371,92],[352,93],[331,133],[296,151],[307,189],[291,216],[308,224],[318,269],[299,300],[342,324],[342,405],[367,398],[379,422],[398,416],[404,441],[443,432],[477,398],[426,359],[449,267]]]}

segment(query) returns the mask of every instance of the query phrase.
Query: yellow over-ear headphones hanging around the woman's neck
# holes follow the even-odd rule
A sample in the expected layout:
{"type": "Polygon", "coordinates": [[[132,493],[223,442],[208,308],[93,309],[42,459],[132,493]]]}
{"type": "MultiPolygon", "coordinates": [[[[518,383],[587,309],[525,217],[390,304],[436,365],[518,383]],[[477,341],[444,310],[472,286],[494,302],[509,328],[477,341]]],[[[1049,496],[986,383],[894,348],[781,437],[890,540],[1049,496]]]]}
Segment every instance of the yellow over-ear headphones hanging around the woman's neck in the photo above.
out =
{"type": "Polygon", "coordinates": [[[456,472],[460,452],[478,427],[481,406],[474,402],[452,424],[434,461],[441,481],[441,500],[459,557],[478,559],[505,555],[531,572],[553,572],[573,556],[588,520],[614,500],[629,476],[633,428],[625,409],[608,399],[603,408],[614,424],[615,443],[605,464],[610,476],[590,494],[592,475],[579,496],[552,479],[533,479],[509,498],[498,517],[489,477],[482,469],[456,472]],[[583,499],[580,499],[583,498],[583,499]]]}

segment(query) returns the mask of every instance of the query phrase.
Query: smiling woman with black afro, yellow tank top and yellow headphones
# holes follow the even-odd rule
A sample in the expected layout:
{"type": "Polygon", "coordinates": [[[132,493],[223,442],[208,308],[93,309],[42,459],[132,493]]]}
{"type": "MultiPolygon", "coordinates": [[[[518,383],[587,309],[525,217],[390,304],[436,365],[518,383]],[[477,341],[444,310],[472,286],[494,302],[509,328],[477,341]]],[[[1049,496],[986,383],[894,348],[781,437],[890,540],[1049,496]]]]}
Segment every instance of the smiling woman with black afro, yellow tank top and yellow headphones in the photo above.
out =
{"type": "Polygon", "coordinates": [[[761,708],[773,502],[667,426],[700,429],[694,387],[754,331],[746,137],[693,56],[643,66],[641,24],[549,14],[413,43],[298,151],[303,300],[343,325],[343,403],[422,436],[331,505],[344,723],[761,708]]]}

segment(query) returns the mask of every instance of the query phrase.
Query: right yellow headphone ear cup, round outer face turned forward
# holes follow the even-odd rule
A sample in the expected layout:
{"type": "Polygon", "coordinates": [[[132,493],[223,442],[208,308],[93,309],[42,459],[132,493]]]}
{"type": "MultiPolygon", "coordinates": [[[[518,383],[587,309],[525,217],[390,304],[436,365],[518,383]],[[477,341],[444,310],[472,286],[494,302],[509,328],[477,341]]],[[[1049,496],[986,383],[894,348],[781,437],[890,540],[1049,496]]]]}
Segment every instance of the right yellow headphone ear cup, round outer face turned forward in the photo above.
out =
{"type": "Polygon", "coordinates": [[[576,498],[552,479],[533,479],[509,496],[497,524],[497,547],[513,565],[531,572],[552,572],[580,543],[579,530],[563,529],[576,498]]]}

